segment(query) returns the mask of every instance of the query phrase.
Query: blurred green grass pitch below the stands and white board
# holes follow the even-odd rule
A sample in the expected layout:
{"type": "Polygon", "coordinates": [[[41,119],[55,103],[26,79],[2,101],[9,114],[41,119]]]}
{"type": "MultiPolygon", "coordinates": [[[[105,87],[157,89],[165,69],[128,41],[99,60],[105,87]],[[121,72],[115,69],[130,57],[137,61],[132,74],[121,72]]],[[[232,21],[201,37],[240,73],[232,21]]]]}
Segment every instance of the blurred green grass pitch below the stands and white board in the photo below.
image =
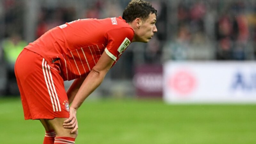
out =
{"type": "MultiPolygon", "coordinates": [[[[255,144],[256,105],[170,105],[161,100],[87,100],[77,112],[76,144],[255,144]]],[[[43,143],[38,120],[24,120],[20,98],[0,98],[3,144],[43,143]]]]}

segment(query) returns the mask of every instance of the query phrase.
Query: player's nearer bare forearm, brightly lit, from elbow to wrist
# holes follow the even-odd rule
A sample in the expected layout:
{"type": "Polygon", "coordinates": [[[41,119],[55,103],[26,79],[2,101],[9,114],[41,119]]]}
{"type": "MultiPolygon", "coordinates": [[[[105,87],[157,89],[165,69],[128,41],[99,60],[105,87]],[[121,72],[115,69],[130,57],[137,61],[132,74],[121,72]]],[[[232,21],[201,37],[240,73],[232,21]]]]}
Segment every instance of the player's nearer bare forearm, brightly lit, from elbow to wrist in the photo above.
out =
{"type": "Polygon", "coordinates": [[[100,85],[107,72],[92,70],[79,88],[70,107],[78,109],[84,100],[100,85]]]}

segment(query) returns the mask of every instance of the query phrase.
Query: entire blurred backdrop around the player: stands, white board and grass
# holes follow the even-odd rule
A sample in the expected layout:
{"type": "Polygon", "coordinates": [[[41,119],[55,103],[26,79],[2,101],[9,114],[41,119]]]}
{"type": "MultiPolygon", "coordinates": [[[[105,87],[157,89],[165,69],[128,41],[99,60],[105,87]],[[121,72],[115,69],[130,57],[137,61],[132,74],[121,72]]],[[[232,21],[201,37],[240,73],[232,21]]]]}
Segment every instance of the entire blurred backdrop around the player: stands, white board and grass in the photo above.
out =
{"type": "MultiPolygon", "coordinates": [[[[76,142],[255,144],[256,1],[148,1],[158,32],[132,43],[79,108],[76,142]]],[[[38,121],[23,119],[13,71],[23,47],[65,22],[122,16],[129,2],[0,0],[3,143],[44,138],[38,121]]]]}

